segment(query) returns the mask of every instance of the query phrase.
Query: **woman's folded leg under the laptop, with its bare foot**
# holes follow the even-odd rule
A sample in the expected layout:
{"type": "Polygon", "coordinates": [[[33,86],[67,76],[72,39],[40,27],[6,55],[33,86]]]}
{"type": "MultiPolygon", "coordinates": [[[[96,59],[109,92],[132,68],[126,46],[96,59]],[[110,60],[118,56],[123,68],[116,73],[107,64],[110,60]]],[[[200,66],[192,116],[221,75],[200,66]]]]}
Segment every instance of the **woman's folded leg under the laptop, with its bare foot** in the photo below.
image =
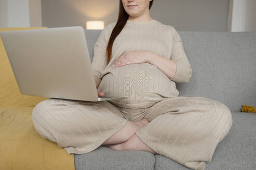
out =
{"type": "Polygon", "coordinates": [[[152,151],[135,134],[149,121],[128,121],[106,101],[97,103],[51,98],[36,105],[32,119],[42,137],[57,143],[69,154],[87,153],[101,145],[118,150],[138,150],[130,145],[136,144],[140,146],[139,150],[152,151]]]}

